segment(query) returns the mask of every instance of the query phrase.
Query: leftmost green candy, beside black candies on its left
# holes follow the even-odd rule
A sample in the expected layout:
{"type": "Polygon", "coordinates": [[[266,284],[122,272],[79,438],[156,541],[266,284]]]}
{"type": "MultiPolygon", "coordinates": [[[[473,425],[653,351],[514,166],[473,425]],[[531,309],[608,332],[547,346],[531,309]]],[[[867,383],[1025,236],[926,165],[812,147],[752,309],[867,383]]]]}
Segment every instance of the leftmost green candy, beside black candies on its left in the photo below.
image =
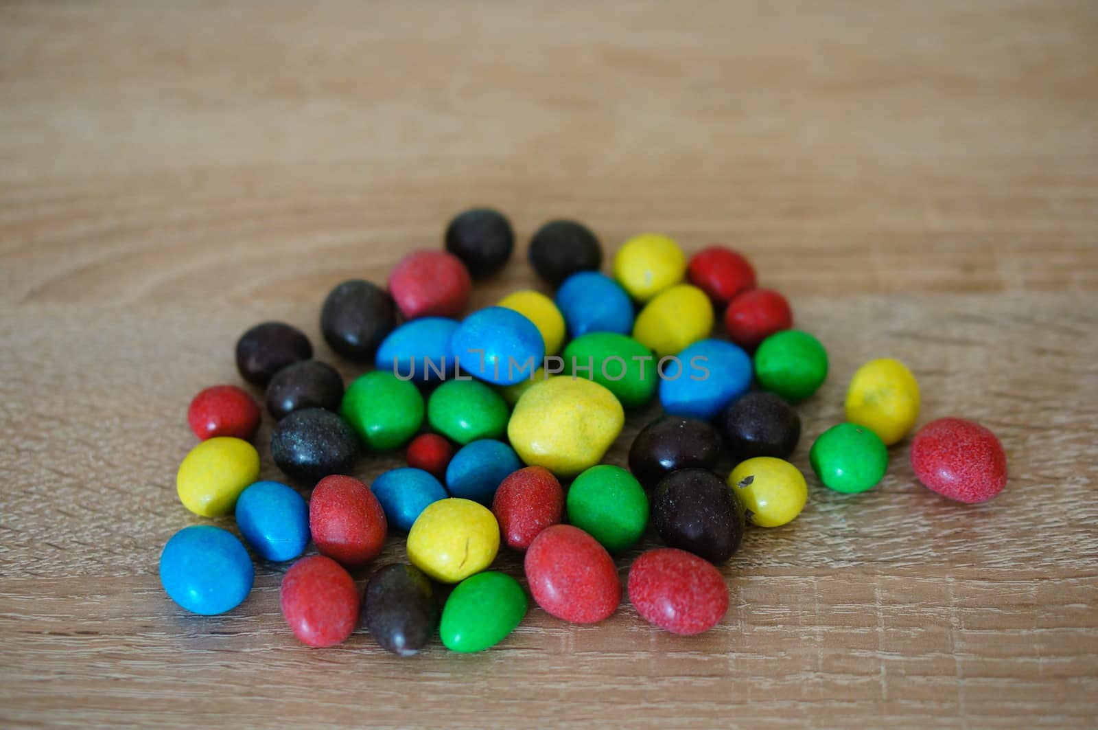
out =
{"type": "Polygon", "coordinates": [[[423,425],[423,396],[385,370],[357,378],[344,394],[339,414],[371,451],[397,449],[423,425]]]}

